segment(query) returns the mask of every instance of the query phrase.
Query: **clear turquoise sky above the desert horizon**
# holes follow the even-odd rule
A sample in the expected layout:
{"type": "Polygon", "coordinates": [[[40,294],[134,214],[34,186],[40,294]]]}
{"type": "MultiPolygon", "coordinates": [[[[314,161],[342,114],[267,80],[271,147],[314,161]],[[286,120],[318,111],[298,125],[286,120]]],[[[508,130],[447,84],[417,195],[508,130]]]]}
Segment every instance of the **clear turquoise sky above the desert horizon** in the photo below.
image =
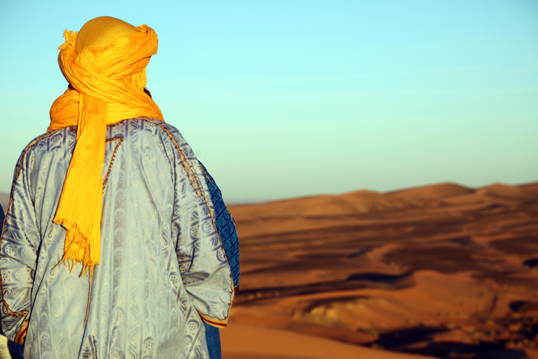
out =
{"type": "Polygon", "coordinates": [[[0,192],[103,15],[156,30],[147,87],[227,203],[538,181],[538,1],[0,0],[0,192]]]}

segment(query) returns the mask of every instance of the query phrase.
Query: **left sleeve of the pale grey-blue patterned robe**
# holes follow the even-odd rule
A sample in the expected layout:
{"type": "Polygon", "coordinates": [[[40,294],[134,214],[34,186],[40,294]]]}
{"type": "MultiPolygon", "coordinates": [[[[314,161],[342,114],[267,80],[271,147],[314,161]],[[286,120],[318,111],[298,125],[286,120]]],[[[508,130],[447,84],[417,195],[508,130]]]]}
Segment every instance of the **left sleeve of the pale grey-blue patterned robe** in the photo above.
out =
{"type": "Polygon", "coordinates": [[[25,149],[15,167],[13,187],[0,235],[1,329],[22,344],[27,330],[37,248],[41,237],[30,183],[32,156],[25,149]]]}

